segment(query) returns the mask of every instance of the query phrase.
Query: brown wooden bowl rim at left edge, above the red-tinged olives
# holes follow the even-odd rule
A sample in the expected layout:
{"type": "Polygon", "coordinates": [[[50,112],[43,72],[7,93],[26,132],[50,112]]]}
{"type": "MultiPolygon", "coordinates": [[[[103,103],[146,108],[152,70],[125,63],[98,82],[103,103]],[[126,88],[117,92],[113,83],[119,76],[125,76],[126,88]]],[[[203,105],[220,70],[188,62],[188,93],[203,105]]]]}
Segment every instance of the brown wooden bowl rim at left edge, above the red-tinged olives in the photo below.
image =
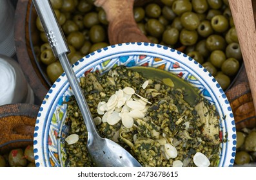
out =
{"type": "Polygon", "coordinates": [[[38,111],[39,106],[33,104],[0,106],[0,154],[33,145],[38,111]]]}

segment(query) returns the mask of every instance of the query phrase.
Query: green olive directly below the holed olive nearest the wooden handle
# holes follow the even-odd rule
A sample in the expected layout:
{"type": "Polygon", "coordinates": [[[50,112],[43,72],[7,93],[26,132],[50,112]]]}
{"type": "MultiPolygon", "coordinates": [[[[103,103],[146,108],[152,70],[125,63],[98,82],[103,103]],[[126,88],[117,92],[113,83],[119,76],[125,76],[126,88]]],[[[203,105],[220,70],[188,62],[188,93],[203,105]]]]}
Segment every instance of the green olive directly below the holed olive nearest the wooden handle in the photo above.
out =
{"type": "Polygon", "coordinates": [[[222,50],[226,48],[226,40],[221,35],[213,34],[206,39],[206,48],[210,51],[222,50]]]}

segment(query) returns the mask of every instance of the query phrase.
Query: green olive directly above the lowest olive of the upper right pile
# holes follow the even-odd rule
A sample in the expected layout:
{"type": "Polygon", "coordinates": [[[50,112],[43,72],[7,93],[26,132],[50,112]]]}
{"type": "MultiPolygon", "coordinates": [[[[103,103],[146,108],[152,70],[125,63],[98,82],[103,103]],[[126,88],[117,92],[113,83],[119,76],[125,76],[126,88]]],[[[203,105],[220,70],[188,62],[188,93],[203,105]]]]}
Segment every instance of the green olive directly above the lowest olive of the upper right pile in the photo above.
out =
{"type": "Polygon", "coordinates": [[[239,71],[239,61],[235,58],[226,59],[221,66],[221,71],[228,76],[234,76],[239,71]]]}

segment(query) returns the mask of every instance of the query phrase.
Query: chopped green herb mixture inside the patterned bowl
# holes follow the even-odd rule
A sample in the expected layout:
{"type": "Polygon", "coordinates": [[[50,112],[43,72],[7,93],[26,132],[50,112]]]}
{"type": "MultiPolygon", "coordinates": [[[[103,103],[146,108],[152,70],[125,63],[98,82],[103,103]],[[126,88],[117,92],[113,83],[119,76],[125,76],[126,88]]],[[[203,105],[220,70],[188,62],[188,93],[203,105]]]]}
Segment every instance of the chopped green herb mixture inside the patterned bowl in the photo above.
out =
{"type": "MultiPolygon", "coordinates": [[[[217,166],[219,115],[214,105],[201,100],[193,107],[184,100],[186,89],[177,88],[175,84],[168,86],[161,80],[144,77],[124,66],[115,67],[103,76],[97,72],[86,73],[86,77],[80,79],[80,85],[92,116],[97,120],[99,134],[119,143],[143,167],[173,167],[177,162],[179,166],[195,167],[193,156],[197,152],[210,160],[210,167],[217,166]],[[111,96],[118,96],[127,87],[134,90],[131,100],[139,101],[144,98],[147,107],[143,112],[144,116],[133,116],[130,128],[122,120],[108,123],[103,118],[106,111],[101,112],[102,109],[98,108],[99,104],[107,104],[111,96]]],[[[76,143],[64,144],[68,155],[66,163],[70,167],[93,167],[86,150],[86,127],[74,96],[66,104],[66,123],[70,127],[70,134],[79,136],[76,143]]],[[[129,107],[119,105],[119,109],[113,109],[113,105],[112,110],[120,114],[122,110],[130,113],[129,107]]]]}

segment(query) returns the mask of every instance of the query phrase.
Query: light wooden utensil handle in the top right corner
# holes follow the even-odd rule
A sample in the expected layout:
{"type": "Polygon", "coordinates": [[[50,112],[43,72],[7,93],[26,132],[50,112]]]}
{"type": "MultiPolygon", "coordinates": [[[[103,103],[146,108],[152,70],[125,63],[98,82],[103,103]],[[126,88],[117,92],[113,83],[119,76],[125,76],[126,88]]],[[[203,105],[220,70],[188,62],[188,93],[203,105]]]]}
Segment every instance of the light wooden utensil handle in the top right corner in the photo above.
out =
{"type": "Polygon", "coordinates": [[[253,15],[253,4],[251,0],[229,0],[229,3],[255,107],[256,62],[254,58],[256,57],[256,29],[253,15]]]}

